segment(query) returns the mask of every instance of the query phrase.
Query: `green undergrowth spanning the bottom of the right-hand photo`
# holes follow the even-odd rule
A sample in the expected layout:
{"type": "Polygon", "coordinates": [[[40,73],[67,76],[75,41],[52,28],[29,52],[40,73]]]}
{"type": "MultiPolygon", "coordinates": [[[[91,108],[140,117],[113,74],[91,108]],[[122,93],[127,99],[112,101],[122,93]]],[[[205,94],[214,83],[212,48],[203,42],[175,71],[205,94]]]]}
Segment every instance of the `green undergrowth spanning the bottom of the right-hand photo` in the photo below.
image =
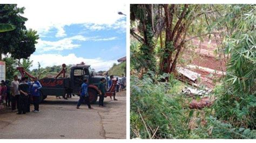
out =
{"type": "Polygon", "coordinates": [[[142,78],[131,76],[131,138],[256,138],[255,130],[218,120],[212,108],[189,109],[190,97],[180,93],[180,86],[184,85],[169,74],[156,75],[148,71],[142,78]],[[159,82],[166,76],[169,82],[159,82]],[[196,118],[194,128],[190,127],[192,118],[196,118]],[[206,124],[201,124],[202,120],[206,124]]]}

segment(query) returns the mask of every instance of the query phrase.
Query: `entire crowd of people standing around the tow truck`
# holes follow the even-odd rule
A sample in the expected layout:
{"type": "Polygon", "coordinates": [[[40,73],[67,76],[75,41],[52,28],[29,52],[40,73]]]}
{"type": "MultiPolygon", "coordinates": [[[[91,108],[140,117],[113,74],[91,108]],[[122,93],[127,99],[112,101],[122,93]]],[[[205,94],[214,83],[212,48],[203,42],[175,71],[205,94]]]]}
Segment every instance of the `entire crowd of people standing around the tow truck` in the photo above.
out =
{"type": "MultiPolygon", "coordinates": [[[[109,89],[112,85],[112,80],[114,76],[110,75],[110,79],[106,79],[103,77],[100,79],[98,84],[99,89],[99,107],[104,107],[104,97],[107,89],[109,89]],[[106,83],[108,86],[106,86],[106,83]]],[[[117,86],[115,91],[118,92],[120,90],[124,90],[126,78],[124,74],[122,74],[122,80],[117,80],[117,86]],[[120,87],[121,86],[121,87],[120,87]]],[[[37,80],[37,77],[33,77],[32,80],[29,80],[29,77],[18,78],[17,75],[14,76],[14,80],[9,85],[9,81],[2,80],[1,81],[1,89],[0,89],[0,103],[3,103],[4,108],[11,109],[12,112],[17,112],[17,115],[25,114],[26,112],[30,112],[30,104],[33,103],[34,110],[32,112],[39,112],[39,101],[40,101],[40,93],[39,89],[42,88],[41,83],[37,80]]],[[[117,101],[116,94],[113,95],[113,100],[117,101]]],[[[71,94],[70,94],[71,96],[71,94]]],[[[110,96],[112,99],[112,97],[110,96]]],[[[83,84],[81,85],[80,97],[77,103],[77,109],[79,106],[85,101],[88,105],[89,109],[92,109],[89,101],[89,93],[88,93],[88,83],[87,79],[83,80],[83,84]]],[[[1,106],[1,105],[0,105],[1,106]]]]}

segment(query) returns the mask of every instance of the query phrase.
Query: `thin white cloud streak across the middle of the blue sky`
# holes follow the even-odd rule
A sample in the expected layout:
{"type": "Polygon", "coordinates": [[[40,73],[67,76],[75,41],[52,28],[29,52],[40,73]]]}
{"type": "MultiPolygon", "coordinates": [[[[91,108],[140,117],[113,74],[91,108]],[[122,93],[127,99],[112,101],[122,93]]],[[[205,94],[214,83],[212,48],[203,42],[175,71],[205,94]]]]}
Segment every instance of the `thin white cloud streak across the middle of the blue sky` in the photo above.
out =
{"type": "Polygon", "coordinates": [[[110,38],[99,38],[99,37],[84,37],[83,35],[76,35],[69,38],[63,38],[58,41],[45,41],[38,40],[36,44],[36,49],[39,53],[47,52],[47,51],[63,51],[64,49],[73,49],[80,47],[79,44],[74,44],[73,41],[109,41],[115,40],[117,37],[110,38]]]}

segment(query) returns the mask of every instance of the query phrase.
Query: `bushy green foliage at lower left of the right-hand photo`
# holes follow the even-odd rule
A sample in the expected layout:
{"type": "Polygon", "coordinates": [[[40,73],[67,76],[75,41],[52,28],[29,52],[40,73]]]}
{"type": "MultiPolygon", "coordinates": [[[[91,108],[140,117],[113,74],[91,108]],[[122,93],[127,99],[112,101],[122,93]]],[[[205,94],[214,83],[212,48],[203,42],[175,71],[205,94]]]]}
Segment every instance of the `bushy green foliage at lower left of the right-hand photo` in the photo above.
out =
{"type": "Polygon", "coordinates": [[[152,138],[157,128],[154,138],[188,137],[184,99],[167,97],[169,84],[157,82],[159,78],[151,71],[141,80],[131,77],[131,138],[152,138]]]}

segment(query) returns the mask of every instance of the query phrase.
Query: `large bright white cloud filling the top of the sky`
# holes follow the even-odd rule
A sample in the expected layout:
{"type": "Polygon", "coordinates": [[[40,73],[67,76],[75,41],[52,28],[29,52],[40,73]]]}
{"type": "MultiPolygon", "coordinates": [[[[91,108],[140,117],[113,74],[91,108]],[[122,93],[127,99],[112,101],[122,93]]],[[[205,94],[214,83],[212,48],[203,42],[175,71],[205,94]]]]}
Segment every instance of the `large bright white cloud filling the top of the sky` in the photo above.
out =
{"type": "MultiPolygon", "coordinates": [[[[56,37],[64,37],[65,25],[93,24],[93,30],[102,30],[103,25],[116,25],[125,23],[118,15],[119,11],[126,12],[124,2],[118,1],[17,1],[18,7],[25,7],[24,17],[28,18],[25,23],[27,28],[33,28],[44,35],[51,28],[57,28],[56,37]]],[[[116,27],[114,26],[114,27],[116,27]]],[[[124,25],[123,25],[124,26],[124,25]]]]}

